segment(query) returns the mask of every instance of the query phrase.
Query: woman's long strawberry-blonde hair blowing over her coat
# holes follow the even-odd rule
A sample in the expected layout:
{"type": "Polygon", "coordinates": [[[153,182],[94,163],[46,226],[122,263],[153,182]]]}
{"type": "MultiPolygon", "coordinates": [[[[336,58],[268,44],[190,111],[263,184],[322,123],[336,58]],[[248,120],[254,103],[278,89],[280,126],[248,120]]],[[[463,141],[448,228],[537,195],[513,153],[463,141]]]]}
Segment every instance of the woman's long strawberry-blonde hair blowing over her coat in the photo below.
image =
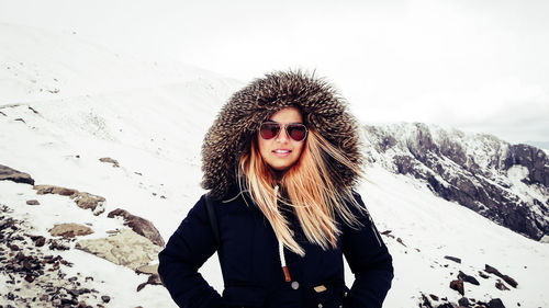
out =
{"type": "Polygon", "coordinates": [[[328,250],[337,247],[341,233],[336,223],[336,214],[351,227],[361,224],[350,212],[348,205],[359,209],[351,189],[341,190],[336,185],[338,172],[335,162],[362,175],[359,166],[350,161],[341,151],[322,137],[314,128],[309,129],[300,159],[277,181],[274,174],[262,160],[257,145],[257,136],[251,138],[249,150],[239,159],[238,179],[265,217],[271,224],[274,233],[291,251],[304,255],[304,250],[294,240],[289,223],[278,201],[293,207],[307,240],[328,250]],[[278,182],[278,183],[277,183],[278,182]],[[278,194],[278,185],[289,199],[278,194]]]}

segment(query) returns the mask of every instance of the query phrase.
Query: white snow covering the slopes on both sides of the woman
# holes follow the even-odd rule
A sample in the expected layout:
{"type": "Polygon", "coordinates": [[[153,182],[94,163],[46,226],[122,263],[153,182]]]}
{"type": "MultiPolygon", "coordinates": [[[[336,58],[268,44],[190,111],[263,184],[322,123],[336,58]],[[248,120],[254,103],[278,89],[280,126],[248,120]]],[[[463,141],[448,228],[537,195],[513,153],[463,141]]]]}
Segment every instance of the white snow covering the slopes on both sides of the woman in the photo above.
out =
{"type": "MultiPolygon", "coordinates": [[[[93,216],[68,197],[36,195],[30,185],[0,181],[0,204],[46,238],[60,223],[89,225],[94,233],[82,238],[104,237],[124,228],[107,213],[124,208],[153,221],[168,240],[204,193],[199,185],[203,135],[242,83],[187,65],[142,62],[72,34],[0,23],[0,56],[7,59],[0,67],[0,163],[30,173],[36,184],[107,198],[105,213],[93,216]],[[103,157],[117,160],[120,168],[100,162],[103,157]],[[27,199],[41,205],[26,205],[27,199]]],[[[411,134],[408,126],[400,129],[411,134]]],[[[523,174],[511,172],[517,180],[523,174]]],[[[367,178],[359,192],[378,229],[391,230],[406,246],[383,237],[395,266],[385,307],[416,307],[421,293],[457,301],[461,296],[448,285],[459,270],[481,283],[466,284],[467,297],[500,297],[506,307],[549,306],[548,244],[438,198],[410,178],[379,167],[370,168],[367,178]],[[514,277],[518,288],[501,292],[493,275],[480,278],[484,264],[514,277]]],[[[108,307],[176,307],[161,286],[136,292],[146,277],[126,267],[76,249],[58,253],[75,264],[68,271],[94,277],[94,288],[112,298],[108,307]]],[[[201,272],[223,289],[216,256],[201,272]]],[[[348,269],[346,281],[352,284],[348,269]]]]}

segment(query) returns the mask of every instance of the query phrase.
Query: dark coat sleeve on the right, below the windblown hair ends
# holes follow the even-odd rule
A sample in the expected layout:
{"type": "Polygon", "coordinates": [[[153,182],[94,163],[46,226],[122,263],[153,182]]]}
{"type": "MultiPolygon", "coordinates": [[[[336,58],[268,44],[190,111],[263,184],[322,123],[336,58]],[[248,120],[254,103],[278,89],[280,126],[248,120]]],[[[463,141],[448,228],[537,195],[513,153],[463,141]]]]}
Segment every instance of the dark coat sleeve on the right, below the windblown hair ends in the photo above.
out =
{"type": "MultiPolygon", "coordinates": [[[[355,194],[355,197],[366,212],[360,195],[355,194]]],[[[355,274],[345,307],[380,308],[393,280],[392,256],[368,212],[355,215],[363,226],[357,230],[345,225],[341,236],[345,259],[355,274]]]]}

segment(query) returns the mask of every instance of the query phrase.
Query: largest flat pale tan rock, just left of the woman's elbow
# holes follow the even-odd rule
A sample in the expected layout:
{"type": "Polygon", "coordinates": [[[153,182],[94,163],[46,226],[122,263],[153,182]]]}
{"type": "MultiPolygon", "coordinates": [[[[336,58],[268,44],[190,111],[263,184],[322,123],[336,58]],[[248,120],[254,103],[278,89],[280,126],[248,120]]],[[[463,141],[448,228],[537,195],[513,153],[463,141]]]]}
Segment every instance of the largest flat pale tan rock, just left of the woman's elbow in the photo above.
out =
{"type": "Polygon", "coordinates": [[[161,250],[149,239],[130,229],[108,238],[80,240],[76,248],[134,271],[156,260],[161,250]]]}

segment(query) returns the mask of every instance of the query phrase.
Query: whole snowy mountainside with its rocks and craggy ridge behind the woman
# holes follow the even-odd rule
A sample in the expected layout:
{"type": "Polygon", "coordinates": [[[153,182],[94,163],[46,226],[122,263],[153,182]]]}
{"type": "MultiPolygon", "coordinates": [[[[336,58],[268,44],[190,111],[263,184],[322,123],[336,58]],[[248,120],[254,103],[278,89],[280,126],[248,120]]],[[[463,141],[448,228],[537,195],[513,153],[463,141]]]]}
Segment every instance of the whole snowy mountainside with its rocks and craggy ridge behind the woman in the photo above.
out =
{"type": "MultiPolygon", "coordinates": [[[[203,193],[202,137],[242,83],[10,24],[0,59],[0,305],[175,307],[141,265],[157,262],[150,235],[167,241],[203,193]]],[[[549,306],[547,178],[517,155],[530,148],[422,124],[365,126],[363,139],[358,190],[394,258],[384,307],[549,306]],[[461,206],[459,187],[485,198],[461,206]],[[517,210],[515,230],[536,240],[505,225],[517,210]]],[[[201,272],[223,289],[215,256],[201,272]]]]}

